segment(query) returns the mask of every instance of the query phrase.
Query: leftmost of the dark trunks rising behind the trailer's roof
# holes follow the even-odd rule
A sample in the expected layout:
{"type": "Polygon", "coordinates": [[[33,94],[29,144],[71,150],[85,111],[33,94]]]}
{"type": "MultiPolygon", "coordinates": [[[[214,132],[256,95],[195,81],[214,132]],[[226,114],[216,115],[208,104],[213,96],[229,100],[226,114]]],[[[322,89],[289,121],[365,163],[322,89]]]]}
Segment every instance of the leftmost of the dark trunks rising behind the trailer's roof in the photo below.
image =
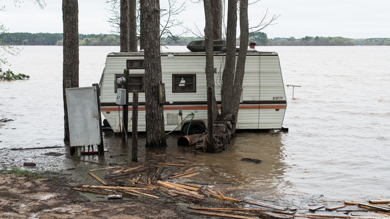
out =
{"type": "Polygon", "coordinates": [[[120,51],[129,51],[129,0],[120,0],[120,51]]]}

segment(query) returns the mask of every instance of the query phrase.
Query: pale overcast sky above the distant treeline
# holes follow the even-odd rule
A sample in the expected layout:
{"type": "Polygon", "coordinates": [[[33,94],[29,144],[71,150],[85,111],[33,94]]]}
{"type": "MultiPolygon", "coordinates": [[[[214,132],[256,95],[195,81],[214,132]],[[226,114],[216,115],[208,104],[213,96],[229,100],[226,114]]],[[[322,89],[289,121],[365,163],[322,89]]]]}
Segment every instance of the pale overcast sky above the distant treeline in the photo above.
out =
{"type": "MultiPolygon", "coordinates": [[[[160,0],[161,8],[167,0],[160,0]]],[[[181,2],[182,0],[178,0],[181,2]]],[[[194,0],[192,0],[194,1],[194,0]]],[[[17,4],[0,0],[0,22],[9,32],[62,32],[62,1],[45,0],[40,9],[30,0],[17,4]]],[[[250,2],[250,1],[249,1],[250,2]]],[[[253,0],[252,0],[253,2],[253,0]]],[[[227,1],[226,1],[227,3],[227,1]]],[[[110,33],[105,0],[78,0],[79,33],[110,33]]],[[[185,25],[204,28],[202,3],[186,1],[186,11],[179,19],[185,25]]],[[[250,4],[249,24],[260,21],[265,10],[268,17],[280,14],[277,24],[261,30],[268,38],[304,36],[343,36],[349,38],[390,37],[390,1],[388,0],[261,0],[250,4]]],[[[174,29],[178,33],[181,29],[174,29]]],[[[188,34],[193,35],[193,34],[188,34]]]]}

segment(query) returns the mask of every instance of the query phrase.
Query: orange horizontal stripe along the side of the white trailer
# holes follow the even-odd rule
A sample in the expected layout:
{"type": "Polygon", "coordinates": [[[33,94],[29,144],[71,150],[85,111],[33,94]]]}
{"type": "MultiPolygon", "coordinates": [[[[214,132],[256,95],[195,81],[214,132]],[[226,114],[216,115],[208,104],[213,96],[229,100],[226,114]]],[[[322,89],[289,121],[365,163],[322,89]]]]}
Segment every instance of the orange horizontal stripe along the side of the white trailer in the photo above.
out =
{"type": "MultiPolygon", "coordinates": [[[[286,105],[240,105],[239,109],[285,109],[286,105]]],[[[121,110],[122,107],[120,106],[121,110]]],[[[207,105],[166,105],[164,106],[164,110],[201,110],[201,109],[207,109],[207,105]]],[[[220,106],[218,105],[218,109],[220,109],[220,106]]],[[[131,111],[132,107],[128,106],[128,110],[131,111]]],[[[138,106],[139,111],[144,111],[145,106],[138,106]]],[[[101,111],[118,111],[118,107],[105,107],[101,106],[101,111]]]]}

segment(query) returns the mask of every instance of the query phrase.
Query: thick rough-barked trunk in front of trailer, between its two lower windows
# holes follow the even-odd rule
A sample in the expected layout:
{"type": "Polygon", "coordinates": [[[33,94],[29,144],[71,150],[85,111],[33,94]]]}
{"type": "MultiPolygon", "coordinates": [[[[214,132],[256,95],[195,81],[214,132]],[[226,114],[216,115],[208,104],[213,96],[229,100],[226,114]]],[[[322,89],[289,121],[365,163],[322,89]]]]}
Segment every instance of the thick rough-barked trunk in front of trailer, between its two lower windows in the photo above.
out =
{"type": "Polygon", "coordinates": [[[144,0],[144,57],[145,57],[145,109],[146,147],[166,146],[164,114],[158,102],[158,84],[162,83],[160,56],[159,0],[144,0]]]}

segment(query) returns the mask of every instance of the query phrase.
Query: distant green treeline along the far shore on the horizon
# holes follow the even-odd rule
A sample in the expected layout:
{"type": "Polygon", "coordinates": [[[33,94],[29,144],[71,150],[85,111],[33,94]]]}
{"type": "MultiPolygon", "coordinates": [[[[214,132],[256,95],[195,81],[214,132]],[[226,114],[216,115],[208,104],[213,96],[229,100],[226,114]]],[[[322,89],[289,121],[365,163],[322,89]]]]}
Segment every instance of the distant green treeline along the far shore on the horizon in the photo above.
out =
{"type": "MultiPolygon", "coordinates": [[[[178,40],[161,38],[162,45],[186,45],[200,37],[180,36],[178,40]]],[[[62,45],[62,33],[0,33],[0,40],[10,45],[62,45]]],[[[119,36],[115,34],[78,34],[79,45],[118,45],[119,36]]],[[[249,34],[249,42],[256,45],[390,45],[390,38],[351,39],[344,37],[305,36],[302,38],[267,38],[264,32],[249,34]]],[[[237,38],[237,45],[239,38],[237,38]]]]}

